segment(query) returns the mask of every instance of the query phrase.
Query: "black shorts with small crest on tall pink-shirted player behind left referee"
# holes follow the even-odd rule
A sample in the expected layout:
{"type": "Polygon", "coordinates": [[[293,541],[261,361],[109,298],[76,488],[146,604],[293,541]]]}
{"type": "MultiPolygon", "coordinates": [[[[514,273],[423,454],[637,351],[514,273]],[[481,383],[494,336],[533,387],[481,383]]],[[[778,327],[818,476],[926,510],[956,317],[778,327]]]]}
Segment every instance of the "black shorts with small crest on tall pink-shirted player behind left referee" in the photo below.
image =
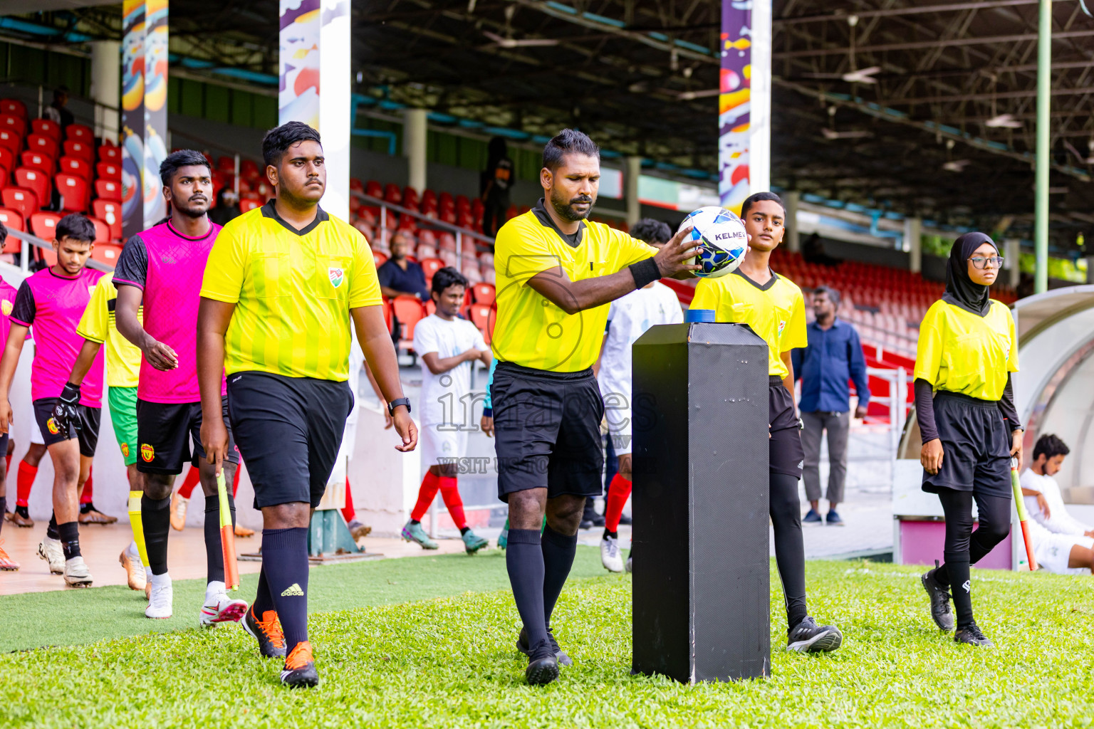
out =
{"type": "MultiPolygon", "coordinates": [[[[221,398],[224,425],[228,427],[228,459],[240,462],[240,454],[228,423],[228,398],[221,398]]],[[[200,402],[150,402],[137,399],[137,470],[141,473],[177,475],[183,463],[197,468],[205,458],[201,445],[200,402]],[[190,440],[194,448],[190,448],[190,440]]]]}

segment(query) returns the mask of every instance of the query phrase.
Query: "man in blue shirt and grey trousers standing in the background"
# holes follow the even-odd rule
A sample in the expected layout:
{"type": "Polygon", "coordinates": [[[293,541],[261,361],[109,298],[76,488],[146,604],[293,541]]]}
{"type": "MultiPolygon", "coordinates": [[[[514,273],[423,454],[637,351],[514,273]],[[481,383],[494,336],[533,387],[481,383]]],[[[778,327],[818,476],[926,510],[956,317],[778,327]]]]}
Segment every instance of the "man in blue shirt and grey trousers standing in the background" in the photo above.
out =
{"type": "Polygon", "coordinates": [[[847,480],[847,434],[851,424],[851,393],[848,380],[854,381],[859,396],[856,418],[864,418],[870,402],[866,360],[859,332],[836,317],[839,292],[821,286],[813,294],[816,321],[806,327],[808,346],[794,350],[794,377],[802,380],[802,446],[805,449],[805,497],[810,510],[803,524],[823,524],[821,503],[821,437],[828,432],[828,516],[829,526],[842,526],[836,507],[843,501],[847,480]]]}

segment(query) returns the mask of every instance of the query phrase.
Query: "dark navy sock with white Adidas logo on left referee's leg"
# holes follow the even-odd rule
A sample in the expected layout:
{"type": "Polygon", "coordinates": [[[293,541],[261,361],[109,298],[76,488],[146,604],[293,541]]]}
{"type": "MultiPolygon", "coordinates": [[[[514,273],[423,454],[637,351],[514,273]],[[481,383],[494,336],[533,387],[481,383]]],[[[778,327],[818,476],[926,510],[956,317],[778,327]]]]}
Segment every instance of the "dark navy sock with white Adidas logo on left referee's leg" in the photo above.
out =
{"type": "Polygon", "coordinates": [[[263,529],[263,573],[292,652],[307,639],[307,529],[263,529]]]}

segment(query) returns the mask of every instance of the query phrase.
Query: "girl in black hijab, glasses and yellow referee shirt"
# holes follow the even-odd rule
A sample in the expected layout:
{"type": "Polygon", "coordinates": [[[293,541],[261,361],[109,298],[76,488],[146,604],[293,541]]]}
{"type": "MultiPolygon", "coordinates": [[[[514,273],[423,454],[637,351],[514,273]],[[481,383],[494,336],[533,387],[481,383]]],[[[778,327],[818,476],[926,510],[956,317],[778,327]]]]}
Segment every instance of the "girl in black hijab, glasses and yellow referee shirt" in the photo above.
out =
{"type": "Polygon", "coordinates": [[[988,297],[1003,259],[991,238],[966,233],[950,250],[946,290],[927,310],[916,352],[916,413],[923,437],[923,491],[946,519],[945,563],[922,576],[931,618],[954,640],[993,644],[973,620],[969,565],[1011,530],[1010,458],[1022,458],[1011,373],[1017,338],[1010,309],[988,297]],[[973,531],[973,502],[979,527],[973,531]]]}

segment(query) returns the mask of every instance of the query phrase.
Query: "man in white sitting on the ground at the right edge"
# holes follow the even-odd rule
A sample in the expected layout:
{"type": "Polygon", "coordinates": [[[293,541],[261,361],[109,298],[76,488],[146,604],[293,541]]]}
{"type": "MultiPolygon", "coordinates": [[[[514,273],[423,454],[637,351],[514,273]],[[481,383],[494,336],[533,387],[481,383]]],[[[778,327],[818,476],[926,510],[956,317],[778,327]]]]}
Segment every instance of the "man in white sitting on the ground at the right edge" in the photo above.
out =
{"type": "Polygon", "coordinates": [[[1022,474],[1022,496],[1033,515],[1029,537],[1037,564],[1061,575],[1086,575],[1094,573],[1094,528],[1068,514],[1052,478],[1069,452],[1055,435],[1040,436],[1033,461],[1022,474]]]}

